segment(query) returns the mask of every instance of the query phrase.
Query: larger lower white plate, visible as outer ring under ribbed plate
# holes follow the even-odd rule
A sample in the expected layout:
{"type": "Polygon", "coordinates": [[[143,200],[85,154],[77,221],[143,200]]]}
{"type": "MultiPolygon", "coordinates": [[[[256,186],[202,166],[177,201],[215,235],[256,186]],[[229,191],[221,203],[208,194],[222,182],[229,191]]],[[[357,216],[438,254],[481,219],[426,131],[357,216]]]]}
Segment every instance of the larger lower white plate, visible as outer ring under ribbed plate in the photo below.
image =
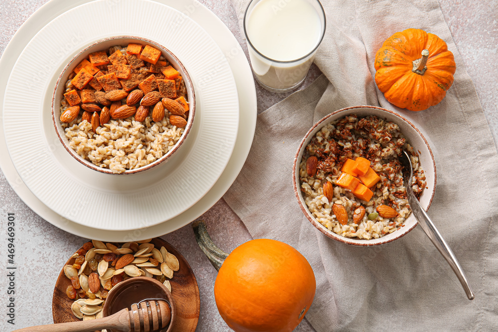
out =
{"type": "MultiPolygon", "coordinates": [[[[2,73],[0,76],[0,105],[2,105],[3,102],[2,92],[6,88],[8,74],[22,49],[34,34],[59,14],[86,2],[89,1],[49,1],[31,15],[17,30],[0,58],[0,72],[2,73]]],[[[24,203],[46,221],[73,234],[107,241],[128,241],[130,239],[139,240],[160,236],[174,231],[198,218],[223,196],[235,181],[248,156],[256,124],[256,94],[252,73],[244,51],[223,22],[199,2],[195,0],[158,0],[158,2],[167,4],[188,14],[190,18],[201,25],[213,39],[215,39],[218,46],[220,46],[227,57],[229,57],[229,64],[239,91],[240,104],[239,131],[234,152],[225,171],[220,176],[220,179],[199,202],[192,206],[192,208],[167,222],[131,231],[97,230],[77,224],[57,215],[29,191],[19,177],[10,158],[0,158],[0,167],[5,178],[24,203]]],[[[0,109],[0,115],[1,111],[2,110],[0,109]]],[[[0,137],[3,138],[3,126],[1,125],[0,137]]],[[[0,155],[6,156],[7,154],[5,141],[0,139],[0,155]]]]}

